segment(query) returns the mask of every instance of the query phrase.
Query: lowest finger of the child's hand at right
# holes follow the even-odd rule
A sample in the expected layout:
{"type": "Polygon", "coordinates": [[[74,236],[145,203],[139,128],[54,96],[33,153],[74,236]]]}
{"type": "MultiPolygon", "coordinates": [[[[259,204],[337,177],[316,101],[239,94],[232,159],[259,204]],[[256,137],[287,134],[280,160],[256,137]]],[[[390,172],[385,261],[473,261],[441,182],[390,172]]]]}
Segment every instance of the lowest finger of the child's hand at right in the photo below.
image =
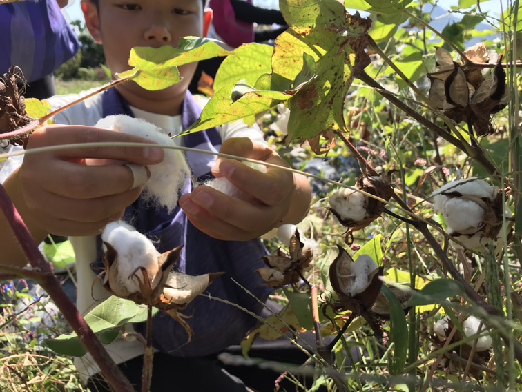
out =
{"type": "Polygon", "coordinates": [[[193,193],[180,198],[180,207],[197,219],[207,213],[244,231],[259,228],[261,233],[271,230],[284,217],[283,206],[260,206],[235,199],[209,186],[198,186],[193,193]]]}

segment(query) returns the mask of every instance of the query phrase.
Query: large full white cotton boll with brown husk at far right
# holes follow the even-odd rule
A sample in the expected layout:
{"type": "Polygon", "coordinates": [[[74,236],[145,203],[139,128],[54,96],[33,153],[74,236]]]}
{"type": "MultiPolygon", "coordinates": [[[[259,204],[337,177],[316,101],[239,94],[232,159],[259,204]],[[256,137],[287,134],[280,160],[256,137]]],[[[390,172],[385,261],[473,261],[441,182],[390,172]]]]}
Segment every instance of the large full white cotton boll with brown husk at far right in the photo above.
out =
{"type": "Polygon", "coordinates": [[[470,249],[482,248],[489,239],[496,242],[503,217],[512,216],[499,188],[483,179],[450,182],[438,189],[433,199],[435,211],[444,217],[447,233],[470,249]]]}

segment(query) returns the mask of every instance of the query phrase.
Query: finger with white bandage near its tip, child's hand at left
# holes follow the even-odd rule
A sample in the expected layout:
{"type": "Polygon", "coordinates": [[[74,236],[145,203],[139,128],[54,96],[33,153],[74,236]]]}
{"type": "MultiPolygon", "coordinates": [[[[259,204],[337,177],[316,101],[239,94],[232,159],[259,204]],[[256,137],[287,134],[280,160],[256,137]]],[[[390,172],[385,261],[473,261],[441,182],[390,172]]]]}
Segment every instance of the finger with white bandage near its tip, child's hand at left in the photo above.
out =
{"type": "Polygon", "coordinates": [[[137,184],[133,171],[123,164],[86,166],[55,159],[30,170],[23,167],[20,175],[24,184],[39,184],[49,193],[72,199],[116,195],[137,184]]]}

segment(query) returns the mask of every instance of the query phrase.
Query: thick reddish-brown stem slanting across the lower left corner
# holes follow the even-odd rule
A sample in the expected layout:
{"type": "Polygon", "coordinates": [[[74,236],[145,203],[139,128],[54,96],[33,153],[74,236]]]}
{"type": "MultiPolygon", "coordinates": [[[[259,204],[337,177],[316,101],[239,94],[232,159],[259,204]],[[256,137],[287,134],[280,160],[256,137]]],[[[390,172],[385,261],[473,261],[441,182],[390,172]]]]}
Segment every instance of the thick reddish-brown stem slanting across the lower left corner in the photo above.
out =
{"type": "MultiPolygon", "coordinates": [[[[84,317],[81,316],[75,304],[69,300],[69,297],[61,288],[55,275],[50,271],[50,267],[43,259],[43,255],[40,253],[37,244],[35,244],[32,239],[26,224],[23,223],[17,209],[14,207],[6,190],[1,185],[0,210],[3,215],[6,216],[7,222],[9,222],[10,227],[32,268],[38,268],[39,271],[42,271],[39,275],[39,283],[50,295],[53,302],[55,302],[56,306],[64,315],[72,329],[77,333],[79,339],[86,346],[90,355],[93,356],[93,360],[95,360],[99,369],[101,369],[101,373],[104,374],[110,386],[112,386],[115,391],[134,392],[131,383],[128,382],[122,371],[119,370],[113,359],[108,355],[93,330],[90,329],[90,326],[85,322],[84,317]]],[[[25,272],[26,271],[24,271],[24,275],[25,272]]],[[[31,273],[28,273],[28,275],[31,275],[31,273]]]]}

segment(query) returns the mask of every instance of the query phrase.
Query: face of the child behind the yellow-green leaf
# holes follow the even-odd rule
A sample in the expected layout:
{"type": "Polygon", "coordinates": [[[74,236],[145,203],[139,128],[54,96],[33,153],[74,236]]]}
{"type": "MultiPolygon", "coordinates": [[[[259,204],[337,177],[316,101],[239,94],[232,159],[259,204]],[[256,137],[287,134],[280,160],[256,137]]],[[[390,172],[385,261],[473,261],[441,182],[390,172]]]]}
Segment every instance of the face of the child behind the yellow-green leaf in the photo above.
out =
{"type": "MultiPolygon", "coordinates": [[[[99,0],[98,9],[84,0],[82,9],[91,35],[104,46],[107,65],[113,73],[131,68],[131,48],[177,46],[180,37],[206,35],[211,22],[211,13],[204,12],[202,0],[99,0]]],[[[195,67],[195,63],[180,67],[184,80],[174,90],[186,90],[195,67]]],[[[138,88],[136,84],[125,86],[138,88]]]]}

